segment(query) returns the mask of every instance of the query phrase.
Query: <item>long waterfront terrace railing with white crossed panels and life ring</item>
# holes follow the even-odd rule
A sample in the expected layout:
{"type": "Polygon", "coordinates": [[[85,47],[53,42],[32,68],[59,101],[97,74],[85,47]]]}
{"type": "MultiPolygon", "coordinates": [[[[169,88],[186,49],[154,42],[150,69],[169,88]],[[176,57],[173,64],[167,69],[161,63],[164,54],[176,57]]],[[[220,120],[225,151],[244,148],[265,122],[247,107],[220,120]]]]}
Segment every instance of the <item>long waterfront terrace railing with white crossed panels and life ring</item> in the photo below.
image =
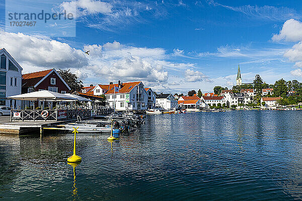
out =
{"type": "Polygon", "coordinates": [[[67,110],[12,110],[11,121],[61,121],[108,115],[114,109],[67,109],[67,110]],[[45,112],[47,111],[47,112],[45,112]]]}

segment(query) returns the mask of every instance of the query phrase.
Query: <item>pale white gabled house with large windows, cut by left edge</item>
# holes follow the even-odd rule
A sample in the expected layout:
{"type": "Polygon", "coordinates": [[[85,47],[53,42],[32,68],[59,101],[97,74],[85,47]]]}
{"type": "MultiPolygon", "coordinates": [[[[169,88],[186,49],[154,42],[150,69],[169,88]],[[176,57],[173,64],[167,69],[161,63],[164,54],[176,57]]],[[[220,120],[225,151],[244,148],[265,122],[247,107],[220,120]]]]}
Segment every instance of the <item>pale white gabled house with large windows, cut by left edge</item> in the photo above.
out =
{"type": "Polygon", "coordinates": [[[23,69],[5,48],[0,50],[0,56],[0,106],[21,106],[21,100],[6,97],[21,94],[23,69]]]}

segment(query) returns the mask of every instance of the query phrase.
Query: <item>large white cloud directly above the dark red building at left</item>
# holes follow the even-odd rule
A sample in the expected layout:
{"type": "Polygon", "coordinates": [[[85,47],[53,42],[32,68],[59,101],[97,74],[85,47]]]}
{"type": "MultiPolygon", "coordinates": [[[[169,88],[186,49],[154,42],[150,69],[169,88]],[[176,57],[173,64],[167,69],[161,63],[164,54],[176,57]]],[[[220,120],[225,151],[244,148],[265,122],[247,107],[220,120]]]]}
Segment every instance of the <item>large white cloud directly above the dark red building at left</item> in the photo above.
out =
{"type": "Polygon", "coordinates": [[[70,47],[67,43],[46,37],[29,36],[22,33],[0,31],[0,47],[5,48],[20,65],[43,68],[73,68],[88,64],[83,51],[70,47]]]}

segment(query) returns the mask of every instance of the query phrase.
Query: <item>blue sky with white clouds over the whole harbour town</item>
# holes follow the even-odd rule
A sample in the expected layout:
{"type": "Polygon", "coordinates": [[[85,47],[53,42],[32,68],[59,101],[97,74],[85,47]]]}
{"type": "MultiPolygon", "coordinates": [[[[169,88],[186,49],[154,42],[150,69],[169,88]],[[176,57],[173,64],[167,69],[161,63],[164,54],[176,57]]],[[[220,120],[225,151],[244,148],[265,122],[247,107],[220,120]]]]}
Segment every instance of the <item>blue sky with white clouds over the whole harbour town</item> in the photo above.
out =
{"type": "MultiPolygon", "coordinates": [[[[49,1],[23,2],[36,8],[49,1]]],[[[53,26],[34,32],[5,29],[1,3],[0,45],[24,72],[71,68],[86,85],[142,80],[158,92],[208,92],[215,85],[232,87],[238,64],[243,82],[256,74],[267,83],[302,81],[301,4],[56,1],[48,9],[77,6],[76,37],[52,37],[53,26]]]]}

